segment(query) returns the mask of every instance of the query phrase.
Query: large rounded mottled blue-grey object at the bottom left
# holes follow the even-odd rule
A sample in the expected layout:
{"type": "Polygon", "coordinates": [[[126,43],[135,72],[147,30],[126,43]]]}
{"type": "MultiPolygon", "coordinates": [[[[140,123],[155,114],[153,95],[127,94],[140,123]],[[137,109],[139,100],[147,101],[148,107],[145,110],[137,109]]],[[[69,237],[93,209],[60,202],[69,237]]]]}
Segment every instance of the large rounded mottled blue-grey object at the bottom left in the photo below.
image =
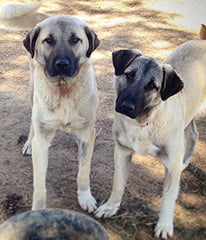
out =
{"type": "Polygon", "coordinates": [[[46,209],[14,216],[0,225],[0,240],[109,240],[93,218],[75,211],[46,209]]]}

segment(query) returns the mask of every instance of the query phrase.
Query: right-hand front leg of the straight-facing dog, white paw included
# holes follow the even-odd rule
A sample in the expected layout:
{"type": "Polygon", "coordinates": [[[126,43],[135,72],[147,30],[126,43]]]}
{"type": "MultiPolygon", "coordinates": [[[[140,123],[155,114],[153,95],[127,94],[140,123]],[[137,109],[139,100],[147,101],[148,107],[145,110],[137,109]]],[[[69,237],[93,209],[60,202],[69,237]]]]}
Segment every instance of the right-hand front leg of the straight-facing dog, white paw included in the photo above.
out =
{"type": "Polygon", "coordinates": [[[79,171],[77,176],[78,202],[85,211],[93,212],[97,206],[90,191],[90,167],[94,148],[95,129],[86,128],[75,131],[78,139],[79,171]]]}

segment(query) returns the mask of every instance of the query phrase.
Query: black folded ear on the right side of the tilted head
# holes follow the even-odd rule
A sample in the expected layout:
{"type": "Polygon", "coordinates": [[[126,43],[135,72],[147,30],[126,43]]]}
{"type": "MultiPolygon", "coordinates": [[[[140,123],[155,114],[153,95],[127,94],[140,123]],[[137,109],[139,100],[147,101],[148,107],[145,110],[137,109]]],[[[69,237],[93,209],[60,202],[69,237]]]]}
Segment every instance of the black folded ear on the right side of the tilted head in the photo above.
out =
{"type": "Polygon", "coordinates": [[[163,81],[160,95],[163,101],[181,91],[184,83],[169,64],[163,65],[163,81]]]}

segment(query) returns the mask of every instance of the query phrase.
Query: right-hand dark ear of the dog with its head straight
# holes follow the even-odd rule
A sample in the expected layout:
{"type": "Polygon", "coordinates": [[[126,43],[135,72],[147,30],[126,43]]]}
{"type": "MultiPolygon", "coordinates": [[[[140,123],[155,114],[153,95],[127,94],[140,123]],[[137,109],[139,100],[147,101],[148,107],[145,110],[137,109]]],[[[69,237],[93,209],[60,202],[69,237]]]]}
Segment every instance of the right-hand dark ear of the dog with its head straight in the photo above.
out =
{"type": "Polygon", "coordinates": [[[85,27],[85,33],[89,41],[89,49],[87,50],[86,56],[89,58],[92,52],[99,46],[100,40],[96,33],[89,27],[85,27]]]}

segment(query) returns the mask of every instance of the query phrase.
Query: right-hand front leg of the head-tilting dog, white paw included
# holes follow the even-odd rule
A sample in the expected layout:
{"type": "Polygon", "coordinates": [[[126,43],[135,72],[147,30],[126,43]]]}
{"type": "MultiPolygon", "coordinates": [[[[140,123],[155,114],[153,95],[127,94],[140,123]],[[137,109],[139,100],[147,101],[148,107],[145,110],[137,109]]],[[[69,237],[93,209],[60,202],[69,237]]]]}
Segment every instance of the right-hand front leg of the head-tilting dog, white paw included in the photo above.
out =
{"type": "Polygon", "coordinates": [[[176,156],[177,160],[175,160],[173,164],[168,164],[168,166],[165,164],[165,180],[161,199],[161,210],[158,223],[155,227],[155,237],[167,239],[168,236],[173,236],[173,214],[179,191],[180,176],[183,169],[183,156],[184,151],[182,150],[181,153],[176,156]]]}

